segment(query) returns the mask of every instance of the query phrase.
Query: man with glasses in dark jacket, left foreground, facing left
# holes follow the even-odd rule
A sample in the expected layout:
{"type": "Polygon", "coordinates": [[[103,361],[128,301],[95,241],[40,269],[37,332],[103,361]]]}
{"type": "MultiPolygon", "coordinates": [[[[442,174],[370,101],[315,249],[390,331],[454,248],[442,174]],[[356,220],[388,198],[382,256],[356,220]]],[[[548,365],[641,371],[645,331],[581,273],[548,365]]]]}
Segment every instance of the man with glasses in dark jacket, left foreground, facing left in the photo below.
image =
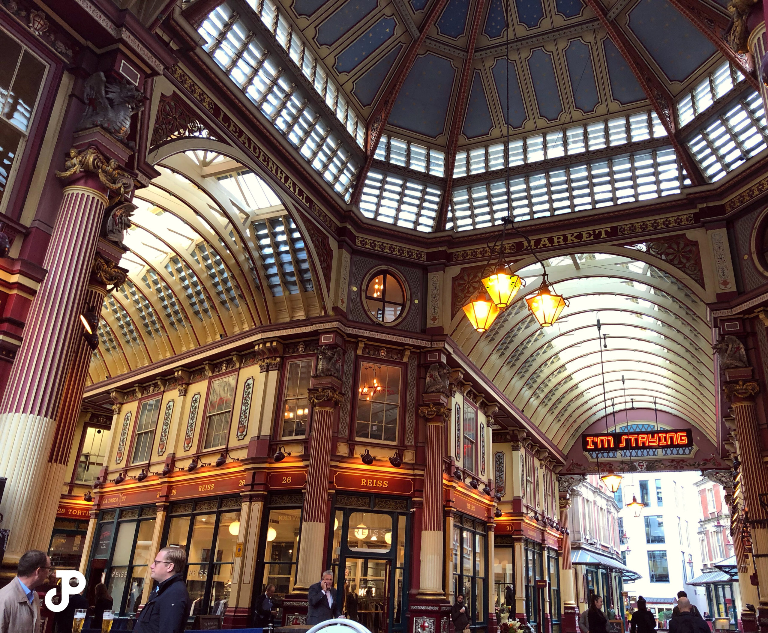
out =
{"type": "Polygon", "coordinates": [[[190,595],[184,582],[187,554],[179,547],[164,547],[150,565],[152,579],[160,584],[150,594],[136,618],[134,633],[183,633],[190,612],[190,595]]]}

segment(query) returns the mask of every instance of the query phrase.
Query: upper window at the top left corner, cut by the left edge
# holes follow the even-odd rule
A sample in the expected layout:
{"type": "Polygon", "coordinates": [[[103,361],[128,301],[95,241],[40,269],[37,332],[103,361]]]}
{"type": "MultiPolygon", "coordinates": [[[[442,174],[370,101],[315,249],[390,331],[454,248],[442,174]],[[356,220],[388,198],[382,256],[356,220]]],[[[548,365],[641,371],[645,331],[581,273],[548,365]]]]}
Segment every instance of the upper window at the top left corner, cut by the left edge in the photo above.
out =
{"type": "Polygon", "coordinates": [[[0,201],[13,163],[22,153],[46,66],[5,31],[0,31],[0,201]]]}

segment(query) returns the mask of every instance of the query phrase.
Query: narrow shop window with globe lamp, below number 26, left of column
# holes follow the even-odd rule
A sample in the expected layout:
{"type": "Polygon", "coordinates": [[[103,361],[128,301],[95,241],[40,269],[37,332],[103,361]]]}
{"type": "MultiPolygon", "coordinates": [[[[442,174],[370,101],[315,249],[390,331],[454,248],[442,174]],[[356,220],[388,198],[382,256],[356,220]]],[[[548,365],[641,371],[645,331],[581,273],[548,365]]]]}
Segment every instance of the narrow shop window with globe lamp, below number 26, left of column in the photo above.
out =
{"type": "Polygon", "coordinates": [[[270,509],[266,520],[262,592],[266,585],[275,585],[275,593],[280,596],[293,591],[300,527],[300,508],[270,509]]]}

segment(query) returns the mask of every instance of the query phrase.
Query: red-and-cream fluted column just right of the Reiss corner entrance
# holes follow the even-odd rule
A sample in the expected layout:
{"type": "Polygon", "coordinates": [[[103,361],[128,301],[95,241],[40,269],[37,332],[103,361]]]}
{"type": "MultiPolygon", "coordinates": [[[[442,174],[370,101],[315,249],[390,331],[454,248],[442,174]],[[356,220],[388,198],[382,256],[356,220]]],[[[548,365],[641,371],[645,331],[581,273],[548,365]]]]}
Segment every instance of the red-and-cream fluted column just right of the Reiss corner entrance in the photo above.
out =
{"type": "Polygon", "coordinates": [[[431,395],[436,401],[419,407],[419,415],[427,422],[419,597],[444,598],[442,457],[445,453],[445,420],[450,419],[451,409],[447,406],[447,397],[442,394],[431,395]]]}

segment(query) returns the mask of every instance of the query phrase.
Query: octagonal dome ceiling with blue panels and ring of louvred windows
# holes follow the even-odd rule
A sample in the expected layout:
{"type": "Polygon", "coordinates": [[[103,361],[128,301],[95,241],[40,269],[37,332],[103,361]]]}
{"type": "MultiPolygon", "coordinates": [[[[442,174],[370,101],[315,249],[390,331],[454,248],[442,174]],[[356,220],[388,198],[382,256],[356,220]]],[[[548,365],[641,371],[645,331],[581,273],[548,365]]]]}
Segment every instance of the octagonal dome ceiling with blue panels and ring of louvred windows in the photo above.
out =
{"type": "Polygon", "coordinates": [[[725,4],[227,0],[198,21],[204,50],[344,201],[433,232],[680,193],[763,150],[725,4]],[[619,173],[609,190],[601,171],[619,173]]]}

